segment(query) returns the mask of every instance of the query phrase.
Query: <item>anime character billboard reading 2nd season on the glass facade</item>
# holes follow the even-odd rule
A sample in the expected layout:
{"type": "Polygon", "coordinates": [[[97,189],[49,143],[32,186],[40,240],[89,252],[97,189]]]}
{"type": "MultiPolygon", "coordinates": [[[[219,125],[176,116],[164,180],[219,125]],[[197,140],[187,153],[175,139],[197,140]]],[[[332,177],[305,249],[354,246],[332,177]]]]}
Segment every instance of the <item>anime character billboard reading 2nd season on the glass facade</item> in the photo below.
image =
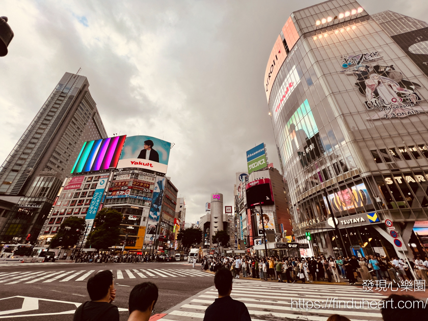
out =
{"type": "Polygon", "coordinates": [[[356,77],[355,86],[365,96],[364,104],[376,113],[368,119],[407,117],[428,112],[428,106],[421,105],[417,88],[421,86],[408,81],[394,65],[380,60],[379,51],[359,53],[342,58],[340,72],[356,77]]]}

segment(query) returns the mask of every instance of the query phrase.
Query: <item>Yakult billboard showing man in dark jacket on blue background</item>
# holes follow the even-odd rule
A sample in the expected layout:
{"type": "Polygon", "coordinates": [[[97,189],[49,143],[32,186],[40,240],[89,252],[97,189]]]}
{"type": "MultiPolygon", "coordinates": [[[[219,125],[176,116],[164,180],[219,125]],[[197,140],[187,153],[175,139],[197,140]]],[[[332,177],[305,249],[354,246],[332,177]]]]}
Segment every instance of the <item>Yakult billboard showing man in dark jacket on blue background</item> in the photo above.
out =
{"type": "Polygon", "coordinates": [[[171,143],[150,137],[127,137],[117,168],[144,168],[166,173],[171,143]]]}

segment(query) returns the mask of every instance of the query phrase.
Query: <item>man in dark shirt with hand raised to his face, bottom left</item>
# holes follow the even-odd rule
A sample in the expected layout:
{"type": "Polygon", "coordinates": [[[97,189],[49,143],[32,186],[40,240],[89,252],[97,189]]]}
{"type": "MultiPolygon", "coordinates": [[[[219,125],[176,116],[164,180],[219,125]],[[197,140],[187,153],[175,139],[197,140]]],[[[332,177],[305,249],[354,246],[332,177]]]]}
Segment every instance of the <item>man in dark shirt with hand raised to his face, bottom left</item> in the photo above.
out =
{"type": "Polygon", "coordinates": [[[116,297],[113,273],[101,271],[88,280],[86,288],[91,301],[76,309],[73,321],[119,321],[119,310],[112,302],[116,297]]]}

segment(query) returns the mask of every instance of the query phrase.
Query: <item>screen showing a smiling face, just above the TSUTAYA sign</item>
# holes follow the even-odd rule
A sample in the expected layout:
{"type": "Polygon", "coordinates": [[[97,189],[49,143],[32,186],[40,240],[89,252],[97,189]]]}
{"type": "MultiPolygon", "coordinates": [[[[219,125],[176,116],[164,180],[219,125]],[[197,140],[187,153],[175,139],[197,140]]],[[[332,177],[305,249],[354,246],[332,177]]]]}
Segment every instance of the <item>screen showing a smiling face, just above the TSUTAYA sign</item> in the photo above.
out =
{"type": "Polygon", "coordinates": [[[333,208],[333,212],[336,213],[344,210],[348,210],[350,213],[355,213],[356,208],[372,204],[364,183],[352,186],[351,189],[345,188],[339,192],[330,194],[329,200],[331,207],[333,208]]]}

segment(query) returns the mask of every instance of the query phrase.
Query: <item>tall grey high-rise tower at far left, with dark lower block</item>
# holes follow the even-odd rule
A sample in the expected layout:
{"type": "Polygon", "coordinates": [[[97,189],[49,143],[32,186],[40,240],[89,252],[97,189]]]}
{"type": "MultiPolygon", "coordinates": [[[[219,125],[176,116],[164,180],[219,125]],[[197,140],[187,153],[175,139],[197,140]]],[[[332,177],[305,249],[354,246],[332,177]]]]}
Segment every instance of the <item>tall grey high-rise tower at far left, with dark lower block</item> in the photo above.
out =
{"type": "Polygon", "coordinates": [[[34,241],[84,142],[107,137],[84,76],[66,72],[0,167],[0,197],[20,196],[4,241],[34,241]]]}

